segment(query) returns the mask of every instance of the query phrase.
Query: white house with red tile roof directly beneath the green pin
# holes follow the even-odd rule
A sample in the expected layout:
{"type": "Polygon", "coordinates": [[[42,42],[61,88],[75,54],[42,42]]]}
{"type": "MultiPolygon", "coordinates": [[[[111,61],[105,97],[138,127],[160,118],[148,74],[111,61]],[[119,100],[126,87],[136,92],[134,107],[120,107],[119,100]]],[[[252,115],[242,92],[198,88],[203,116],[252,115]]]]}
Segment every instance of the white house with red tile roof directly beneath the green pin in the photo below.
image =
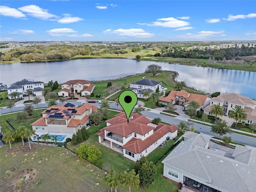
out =
{"type": "Polygon", "coordinates": [[[110,142],[110,148],[121,146],[124,156],[135,162],[150,154],[167,137],[173,139],[178,133],[176,125],[159,123],[156,126],[138,113],[130,115],[129,123],[124,112],[106,122],[107,126],[97,133],[99,143],[110,142]]]}

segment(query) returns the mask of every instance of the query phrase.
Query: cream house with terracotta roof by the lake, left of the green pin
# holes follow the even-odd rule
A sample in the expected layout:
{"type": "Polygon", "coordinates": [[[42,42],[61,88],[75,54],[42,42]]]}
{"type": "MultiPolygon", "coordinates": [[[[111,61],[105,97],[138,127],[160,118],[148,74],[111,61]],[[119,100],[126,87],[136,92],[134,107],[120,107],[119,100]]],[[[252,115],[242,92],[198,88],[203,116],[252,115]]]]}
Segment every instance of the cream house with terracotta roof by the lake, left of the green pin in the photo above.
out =
{"type": "Polygon", "coordinates": [[[61,85],[58,96],[68,97],[70,94],[81,93],[81,96],[90,95],[95,85],[88,80],[70,80],[61,85]]]}

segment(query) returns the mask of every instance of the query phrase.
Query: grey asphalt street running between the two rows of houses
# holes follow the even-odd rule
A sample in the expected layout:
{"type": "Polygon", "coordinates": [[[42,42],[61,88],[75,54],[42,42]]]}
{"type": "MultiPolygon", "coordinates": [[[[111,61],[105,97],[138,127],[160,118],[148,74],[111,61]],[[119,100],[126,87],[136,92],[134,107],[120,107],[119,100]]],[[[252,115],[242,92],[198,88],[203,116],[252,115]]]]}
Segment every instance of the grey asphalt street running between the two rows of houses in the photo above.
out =
{"type": "MultiPolygon", "coordinates": [[[[80,105],[81,102],[83,102],[83,100],[80,100],[79,102],[71,102],[71,103],[74,104],[74,105],[80,105]]],[[[58,105],[61,105],[61,104],[62,104],[61,102],[58,103],[58,105]]],[[[92,103],[92,104],[95,105],[95,106],[98,106],[98,107],[100,106],[99,103],[92,103]]],[[[33,105],[33,106],[34,106],[35,109],[37,108],[37,105],[33,105]]],[[[12,108],[12,112],[23,110],[24,107],[25,106],[16,106],[16,107],[12,108]]],[[[38,107],[43,108],[43,107],[48,107],[48,105],[46,103],[38,104],[38,107]]],[[[110,108],[117,109],[117,106],[115,104],[110,103],[110,108]]],[[[10,111],[9,108],[0,110],[0,114],[10,113],[10,112],[11,111],[10,111]]],[[[166,122],[166,123],[169,123],[169,124],[178,125],[181,121],[180,119],[177,119],[177,118],[169,117],[169,116],[162,115],[162,114],[156,114],[156,113],[150,112],[150,111],[142,111],[142,114],[144,116],[148,117],[148,118],[151,118],[151,119],[156,118],[156,117],[160,117],[162,122],[166,122]]],[[[207,134],[207,135],[210,135],[210,136],[217,136],[218,137],[217,134],[214,134],[214,133],[210,132],[210,127],[209,126],[204,126],[202,124],[197,124],[197,123],[194,123],[193,126],[196,128],[196,130],[198,132],[201,132],[203,134],[207,134]]],[[[244,136],[244,135],[236,134],[236,133],[227,134],[226,136],[230,136],[232,138],[233,142],[238,142],[238,143],[242,143],[242,144],[245,144],[245,145],[256,147],[256,138],[254,138],[254,137],[244,136]]]]}

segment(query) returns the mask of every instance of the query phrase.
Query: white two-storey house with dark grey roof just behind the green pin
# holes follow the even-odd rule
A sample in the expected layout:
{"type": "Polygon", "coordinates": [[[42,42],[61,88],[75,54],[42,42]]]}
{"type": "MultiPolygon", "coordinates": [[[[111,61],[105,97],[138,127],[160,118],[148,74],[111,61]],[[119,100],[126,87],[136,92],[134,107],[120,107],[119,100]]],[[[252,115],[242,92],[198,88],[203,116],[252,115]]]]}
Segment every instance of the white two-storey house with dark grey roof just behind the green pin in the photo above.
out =
{"type": "Polygon", "coordinates": [[[128,90],[136,93],[139,98],[146,98],[143,96],[144,92],[147,91],[149,93],[156,92],[156,89],[161,89],[162,82],[151,80],[151,79],[141,79],[136,82],[130,83],[130,88],[128,90]]]}

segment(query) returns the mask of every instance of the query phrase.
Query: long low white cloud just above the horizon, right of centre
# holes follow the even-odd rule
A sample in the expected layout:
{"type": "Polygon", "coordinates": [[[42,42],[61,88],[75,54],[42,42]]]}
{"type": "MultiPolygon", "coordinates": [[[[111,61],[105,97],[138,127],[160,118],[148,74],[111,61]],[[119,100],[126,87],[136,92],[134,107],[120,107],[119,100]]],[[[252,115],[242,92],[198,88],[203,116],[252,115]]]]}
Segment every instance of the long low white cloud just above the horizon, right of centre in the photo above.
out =
{"type": "Polygon", "coordinates": [[[206,39],[211,37],[226,36],[223,31],[200,31],[197,34],[187,33],[184,35],[173,36],[171,38],[182,38],[182,39],[206,39]]]}

